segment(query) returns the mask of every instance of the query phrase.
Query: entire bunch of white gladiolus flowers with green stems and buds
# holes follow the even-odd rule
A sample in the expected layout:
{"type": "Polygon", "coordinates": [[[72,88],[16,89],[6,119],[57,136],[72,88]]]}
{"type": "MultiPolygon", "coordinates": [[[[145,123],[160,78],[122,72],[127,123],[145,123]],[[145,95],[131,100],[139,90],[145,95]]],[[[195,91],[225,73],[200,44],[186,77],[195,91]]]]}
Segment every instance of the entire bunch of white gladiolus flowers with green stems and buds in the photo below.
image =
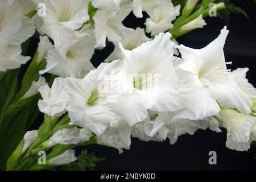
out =
{"type": "Polygon", "coordinates": [[[228,131],[226,147],[248,150],[256,89],[248,68],[227,68],[229,31],[201,49],[175,40],[223,9],[214,0],[0,0],[1,169],[52,169],[75,162],[77,146],[121,153],[131,136],[173,144],[208,128],[228,131]],[[148,16],[146,28],[125,27],[130,13],[148,16]],[[35,30],[40,42],[26,64],[35,30]],[[94,68],[107,39],[114,51],[94,68]],[[42,125],[28,131],[40,113],[42,125]]]}

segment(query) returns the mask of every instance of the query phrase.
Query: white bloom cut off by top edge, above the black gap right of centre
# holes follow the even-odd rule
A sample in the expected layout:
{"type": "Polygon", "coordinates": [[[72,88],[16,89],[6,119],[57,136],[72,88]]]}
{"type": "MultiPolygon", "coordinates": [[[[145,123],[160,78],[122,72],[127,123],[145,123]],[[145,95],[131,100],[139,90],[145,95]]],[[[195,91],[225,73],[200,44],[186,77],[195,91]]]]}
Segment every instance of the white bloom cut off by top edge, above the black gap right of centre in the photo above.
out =
{"type": "Polygon", "coordinates": [[[170,0],[133,0],[133,13],[138,18],[142,18],[142,11],[151,12],[158,6],[167,5],[170,0]]]}

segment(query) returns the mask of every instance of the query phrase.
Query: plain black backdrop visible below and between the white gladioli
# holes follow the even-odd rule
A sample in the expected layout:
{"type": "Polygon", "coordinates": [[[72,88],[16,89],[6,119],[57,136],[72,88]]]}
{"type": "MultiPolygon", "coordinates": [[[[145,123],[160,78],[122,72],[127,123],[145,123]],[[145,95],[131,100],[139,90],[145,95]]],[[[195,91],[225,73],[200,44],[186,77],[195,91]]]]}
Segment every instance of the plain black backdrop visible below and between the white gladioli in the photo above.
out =
{"type": "MultiPolygon", "coordinates": [[[[255,2],[253,0],[232,1],[241,6],[251,20],[241,14],[232,14],[225,44],[226,61],[233,61],[229,68],[248,67],[247,75],[251,84],[256,86],[256,26],[255,2]]],[[[145,18],[135,18],[130,14],[123,22],[127,27],[143,27],[145,18]]],[[[192,48],[203,48],[212,42],[226,25],[225,21],[211,17],[203,29],[193,31],[177,39],[180,44],[192,48]]],[[[36,38],[35,38],[36,39],[36,38]]],[[[36,45],[36,44],[35,44],[36,45]]],[[[36,46],[30,50],[32,54],[36,46]]],[[[101,51],[96,51],[92,63],[98,66],[113,50],[108,43],[101,51]]],[[[133,138],[131,149],[118,154],[118,150],[105,146],[88,146],[89,152],[99,157],[106,157],[97,164],[97,170],[255,170],[256,147],[247,152],[229,150],[225,147],[226,131],[214,133],[210,130],[198,130],[195,135],[181,135],[174,145],[165,142],[141,142],[133,138]],[[217,152],[217,165],[209,165],[209,151],[217,152]]]]}

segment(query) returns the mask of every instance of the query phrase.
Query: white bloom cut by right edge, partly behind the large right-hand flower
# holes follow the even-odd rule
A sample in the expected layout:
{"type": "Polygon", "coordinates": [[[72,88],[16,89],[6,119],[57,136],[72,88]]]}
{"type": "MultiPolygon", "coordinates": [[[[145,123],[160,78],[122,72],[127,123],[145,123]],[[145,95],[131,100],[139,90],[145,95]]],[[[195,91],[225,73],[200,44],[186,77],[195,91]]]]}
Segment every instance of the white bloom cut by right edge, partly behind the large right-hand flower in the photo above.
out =
{"type": "Polygon", "coordinates": [[[243,92],[251,99],[256,100],[256,89],[246,79],[246,73],[249,68],[237,68],[230,72],[230,76],[237,82],[237,85],[243,90],[243,92]]]}

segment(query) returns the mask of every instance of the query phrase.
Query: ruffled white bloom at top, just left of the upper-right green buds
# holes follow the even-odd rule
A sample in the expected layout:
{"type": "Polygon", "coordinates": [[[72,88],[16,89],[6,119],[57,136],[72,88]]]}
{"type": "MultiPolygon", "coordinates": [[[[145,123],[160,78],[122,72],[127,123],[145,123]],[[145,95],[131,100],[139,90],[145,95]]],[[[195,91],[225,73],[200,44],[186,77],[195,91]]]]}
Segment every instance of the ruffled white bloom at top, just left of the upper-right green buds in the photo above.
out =
{"type": "Polygon", "coordinates": [[[167,5],[156,7],[149,15],[150,18],[147,18],[145,23],[146,31],[147,33],[151,32],[151,36],[154,36],[174,27],[172,21],[180,15],[180,5],[174,7],[170,2],[167,5]]]}

